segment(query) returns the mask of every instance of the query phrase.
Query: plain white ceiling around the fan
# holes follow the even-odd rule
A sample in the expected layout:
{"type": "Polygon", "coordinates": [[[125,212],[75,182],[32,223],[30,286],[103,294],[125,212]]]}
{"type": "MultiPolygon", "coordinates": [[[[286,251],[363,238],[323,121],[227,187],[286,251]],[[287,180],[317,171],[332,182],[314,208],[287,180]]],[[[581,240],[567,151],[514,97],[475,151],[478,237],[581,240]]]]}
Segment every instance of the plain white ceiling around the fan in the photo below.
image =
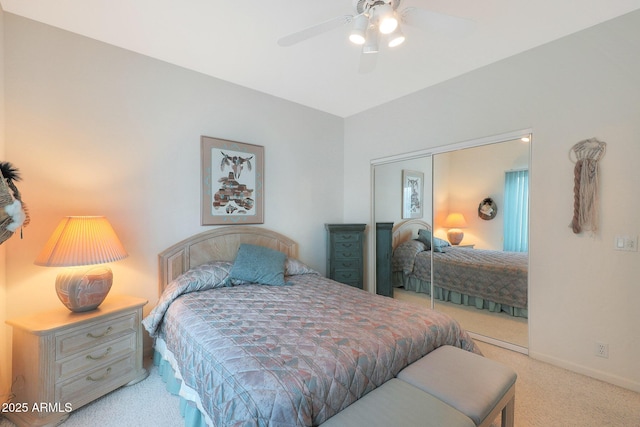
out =
{"type": "Polygon", "coordinates": [[[353,14],[353,0],[0,0],[10,12],[348,117],[640,9],[640,0],[403,0],[469,18],[455,39],[405,26],[407,41],[358,72],[349,25],[296,44],[277,40],[353,14]]]}

